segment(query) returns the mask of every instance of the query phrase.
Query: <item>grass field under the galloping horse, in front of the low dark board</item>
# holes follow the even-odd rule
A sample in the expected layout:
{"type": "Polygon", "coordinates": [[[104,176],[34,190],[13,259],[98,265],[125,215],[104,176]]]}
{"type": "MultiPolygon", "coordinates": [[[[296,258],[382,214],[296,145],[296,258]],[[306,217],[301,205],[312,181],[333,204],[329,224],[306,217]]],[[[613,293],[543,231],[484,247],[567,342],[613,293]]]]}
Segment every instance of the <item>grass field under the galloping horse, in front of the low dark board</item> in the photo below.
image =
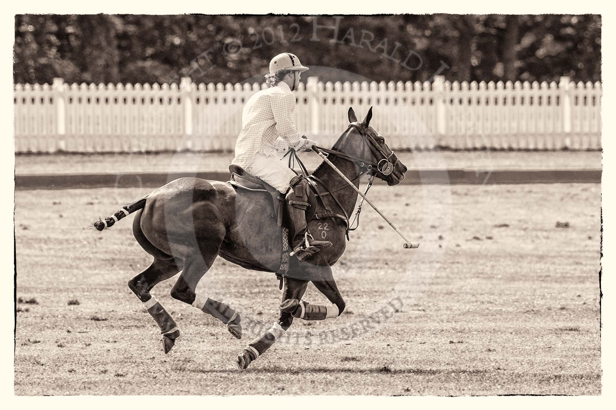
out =
{"type": "MultiPolygon", "coordinates": [[[[598,184],[373,187],[421,246],[403,250],[365,207],[334,266],[347,310],[296,320],[243,372],[237,353],[277,318],[277,280],[218,259],[198,286],[240,310],[241,341],[161,283],[182,332],[164,355],[126,286],[150,263],[132,217],[87,227],[146,192],[15,192],[17,395],[601,393],[598,184]]],[[[325,302],[312,285],[305,299],[325,302]]]]}

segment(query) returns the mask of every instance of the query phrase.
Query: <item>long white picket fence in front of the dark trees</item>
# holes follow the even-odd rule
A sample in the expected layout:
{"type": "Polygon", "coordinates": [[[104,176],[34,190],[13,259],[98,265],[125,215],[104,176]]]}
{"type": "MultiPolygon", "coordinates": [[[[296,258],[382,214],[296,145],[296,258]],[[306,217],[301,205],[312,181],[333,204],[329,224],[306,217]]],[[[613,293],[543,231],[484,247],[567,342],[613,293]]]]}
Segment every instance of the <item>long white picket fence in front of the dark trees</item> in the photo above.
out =
{"type": "MultiPolygon", "coordinates": [[[[15,152],[233,149],[244,103],[265,84],[15,85],[15,152]]],[[[352,106],[391,148],[600,149],[601,83],[372,82],[309,77],[299,132],[330,146],[352,106]]]]}

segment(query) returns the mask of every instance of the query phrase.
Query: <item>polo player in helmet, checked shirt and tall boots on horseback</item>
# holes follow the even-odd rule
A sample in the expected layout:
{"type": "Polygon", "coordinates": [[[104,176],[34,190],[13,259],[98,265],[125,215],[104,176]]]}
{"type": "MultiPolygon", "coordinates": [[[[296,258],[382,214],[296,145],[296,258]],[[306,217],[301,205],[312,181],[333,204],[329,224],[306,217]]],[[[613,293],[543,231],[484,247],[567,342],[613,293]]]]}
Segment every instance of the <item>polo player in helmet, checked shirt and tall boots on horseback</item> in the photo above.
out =
{"type": "Polygon", "coordinates": [[[277,155],[289,148],[307,152],[316,144],[306,136],[299,136],[293,124],[296,101],[293,91],[298,89],[301,73],[307,69],[291,53],[272,58],[269,74],[265,76],[269,88],[255,93],[244,106],[242,129],[232,162],[286,194],[286,211],[290,230],[294,232],[291,246],[298,259],[331,246],[331,242],[314,240],[307,231],[308,181],[277,155]]]}

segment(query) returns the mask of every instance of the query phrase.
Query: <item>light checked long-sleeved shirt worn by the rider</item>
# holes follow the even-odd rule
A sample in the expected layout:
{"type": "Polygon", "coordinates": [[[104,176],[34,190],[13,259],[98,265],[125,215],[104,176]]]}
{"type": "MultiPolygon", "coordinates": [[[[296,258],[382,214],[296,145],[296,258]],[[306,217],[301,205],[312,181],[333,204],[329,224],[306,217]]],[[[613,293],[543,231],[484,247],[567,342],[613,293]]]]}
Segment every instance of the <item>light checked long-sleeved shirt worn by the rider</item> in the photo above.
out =
{"type": "Polygon", "coordinates": [[[254,155],[277,156],[301,140],[293,124],[295,96],[285,82],[254,93],[241,114],[241,132],[232,164],[242,168],[253,162],[254,155]]]}

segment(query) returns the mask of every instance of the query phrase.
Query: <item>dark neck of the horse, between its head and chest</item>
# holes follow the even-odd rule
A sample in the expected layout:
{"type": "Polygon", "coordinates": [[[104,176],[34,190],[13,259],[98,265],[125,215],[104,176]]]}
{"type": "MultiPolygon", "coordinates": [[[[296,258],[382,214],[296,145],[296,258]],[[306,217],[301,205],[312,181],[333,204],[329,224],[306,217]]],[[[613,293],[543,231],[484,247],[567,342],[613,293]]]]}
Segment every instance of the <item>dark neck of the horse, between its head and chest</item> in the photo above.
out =
{"type": "MultiPolygon", "coordinates": [[[[359,168],[357,165],[349,160],[334,155],[330,155],[329,159],[342,174],[354,183],[355,187],[359,187],[359,168]]],[[[347,215],[351,216],[351,213],[355,209],[355,203],[357,202],[357,192],[349,186],[330,165],[326,164],[325,161],[314,170],[312,175],[323,181],[330,190],[338,189],[338,187],[341,186],[344,187],[333,195],[336,195],[336,198],[339,200],[347,215]]]]}

